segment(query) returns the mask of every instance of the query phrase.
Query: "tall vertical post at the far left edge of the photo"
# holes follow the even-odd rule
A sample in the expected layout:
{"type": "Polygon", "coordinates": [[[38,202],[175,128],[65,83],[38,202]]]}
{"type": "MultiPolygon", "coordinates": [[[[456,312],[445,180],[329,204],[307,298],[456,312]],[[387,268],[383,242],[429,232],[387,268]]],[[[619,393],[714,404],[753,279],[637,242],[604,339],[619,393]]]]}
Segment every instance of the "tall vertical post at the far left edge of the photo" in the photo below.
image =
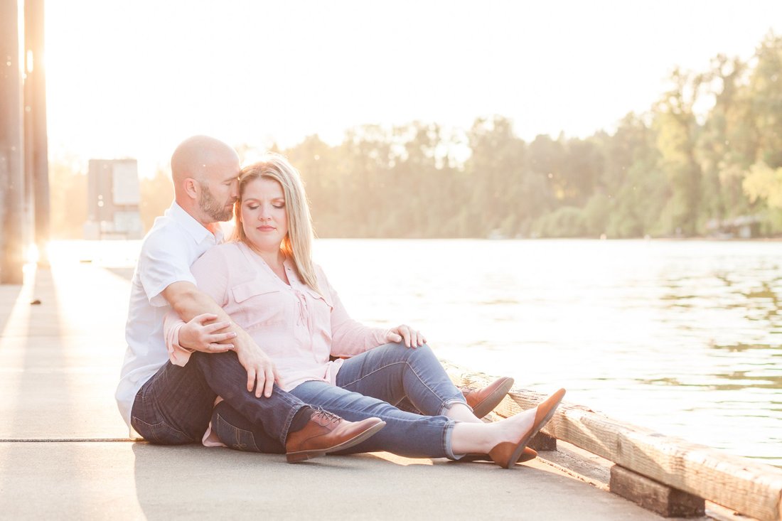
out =
{"type": "Polygon", "coordinates": [[[0,283],[21,284],[24,157],[19,0],[0,0],[0,283]]]}

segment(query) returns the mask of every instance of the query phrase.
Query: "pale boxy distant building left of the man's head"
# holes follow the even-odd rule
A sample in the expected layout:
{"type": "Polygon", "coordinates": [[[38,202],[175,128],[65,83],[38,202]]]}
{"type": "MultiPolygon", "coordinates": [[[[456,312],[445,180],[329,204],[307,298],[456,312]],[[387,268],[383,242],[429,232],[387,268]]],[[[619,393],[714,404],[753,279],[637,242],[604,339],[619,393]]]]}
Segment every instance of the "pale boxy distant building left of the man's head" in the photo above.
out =
{"type": "Polygon", "coordinates": [[[141,239],[136,160],[90,160],[87,183],[84,239],[141,239]]]}

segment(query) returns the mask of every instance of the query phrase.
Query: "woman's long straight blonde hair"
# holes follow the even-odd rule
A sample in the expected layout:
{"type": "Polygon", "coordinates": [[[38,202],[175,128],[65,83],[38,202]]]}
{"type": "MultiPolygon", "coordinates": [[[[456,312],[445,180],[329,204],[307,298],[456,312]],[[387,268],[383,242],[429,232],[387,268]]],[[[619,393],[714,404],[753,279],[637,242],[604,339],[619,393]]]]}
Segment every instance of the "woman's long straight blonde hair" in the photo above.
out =
{"type": "Polygon", "coordinates": [[[282,239],[280,250],[293,260],[299,278],[318,293],[317,275],[312,262],[312,218],[307,193],[301,175],[291,163],[278,153],[267,153],[260,161],[242,168],[239,173],[239,200],[234,205],[236,226],[233,239],[249,246],[242,228],[242,199],[247,184],[260,178],[274,179],[282,186],[285,195],[285,216],[288,217],[288,234],[282,239]]]}

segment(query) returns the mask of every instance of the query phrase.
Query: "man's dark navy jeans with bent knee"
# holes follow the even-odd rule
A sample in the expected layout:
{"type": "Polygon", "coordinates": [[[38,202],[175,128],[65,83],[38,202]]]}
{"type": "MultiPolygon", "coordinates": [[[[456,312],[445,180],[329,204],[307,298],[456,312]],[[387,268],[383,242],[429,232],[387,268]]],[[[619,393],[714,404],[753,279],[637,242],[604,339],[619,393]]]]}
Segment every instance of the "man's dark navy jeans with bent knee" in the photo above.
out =
{"type": "Polygon", "coordinates": [[[136,394],[131,425],[153,443],[200,441],[219,394],[231,408],[260,426],[264,436],[284,447],[293,416],[305,404],[278,386],[271,397],[256,398],[246,382],[247,372],[233,351],[196,352],[185,367],[167,362],[136,394]]]}

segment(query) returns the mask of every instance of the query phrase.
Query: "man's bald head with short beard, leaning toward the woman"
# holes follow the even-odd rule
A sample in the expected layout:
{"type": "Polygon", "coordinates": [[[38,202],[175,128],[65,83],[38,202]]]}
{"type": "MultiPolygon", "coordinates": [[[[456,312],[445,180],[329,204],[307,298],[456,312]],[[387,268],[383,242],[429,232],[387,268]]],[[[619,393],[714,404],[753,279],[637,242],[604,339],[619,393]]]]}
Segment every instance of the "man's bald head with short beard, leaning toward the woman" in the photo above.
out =
{"type": "Polygon", "coordinates": [[[239,155],[218,139],[195,135],[171,155],[174,196],[203,225],[231,218],[239,196],[239,155]]]}

